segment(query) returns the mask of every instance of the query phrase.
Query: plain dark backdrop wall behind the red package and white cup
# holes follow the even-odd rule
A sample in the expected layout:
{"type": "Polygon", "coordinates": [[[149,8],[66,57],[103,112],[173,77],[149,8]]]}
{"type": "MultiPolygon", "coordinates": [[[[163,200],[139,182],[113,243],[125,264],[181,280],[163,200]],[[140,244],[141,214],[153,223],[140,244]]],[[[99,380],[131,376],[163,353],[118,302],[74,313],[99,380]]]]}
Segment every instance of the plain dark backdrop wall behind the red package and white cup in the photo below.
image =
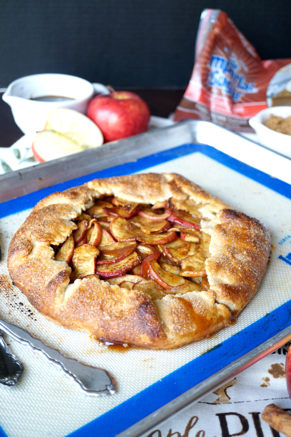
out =
{"type": "Polygon", "coordinates": [[[206,7],[225,10],[262,59],[291,57],[290,0],[0,0],[0,87],[67,73],[185,89],[206,7]]]}

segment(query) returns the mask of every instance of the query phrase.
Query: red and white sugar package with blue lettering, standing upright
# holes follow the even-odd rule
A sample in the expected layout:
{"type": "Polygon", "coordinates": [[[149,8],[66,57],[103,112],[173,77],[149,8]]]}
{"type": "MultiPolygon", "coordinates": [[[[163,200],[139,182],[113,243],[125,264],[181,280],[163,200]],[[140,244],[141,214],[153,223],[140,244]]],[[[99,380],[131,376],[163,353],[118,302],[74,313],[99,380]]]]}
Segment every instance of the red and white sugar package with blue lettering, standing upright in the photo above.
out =
{"type": "Polygon", "coordinates": [[[282,105],[291,106],[291,59],[261,61],[225,12],[203,10],[192,76],[174,120],[207,120],[253,132],[249,118],[282,105]]]}

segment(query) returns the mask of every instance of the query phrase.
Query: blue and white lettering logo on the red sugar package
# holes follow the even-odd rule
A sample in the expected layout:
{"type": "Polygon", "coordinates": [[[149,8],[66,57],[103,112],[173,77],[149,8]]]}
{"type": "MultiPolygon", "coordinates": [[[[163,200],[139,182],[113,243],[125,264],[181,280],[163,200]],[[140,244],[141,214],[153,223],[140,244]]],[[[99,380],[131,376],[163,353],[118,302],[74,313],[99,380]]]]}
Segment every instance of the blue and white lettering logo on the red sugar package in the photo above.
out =
{"type": "MultiPolygon", "coordinates": [[[[224,51],[228,49],[225,48],[224,51]]],[[[231,96],[233,101],[241,101],[245,94],[258,92],[255,82],[247,82],[245,75],[238,73],[241,69],[247,73],[249,69],[234,53],[231,53],[229,59],[212,55],[209,68],[207,85],[219,88],[223,94],[231,96]]]]}

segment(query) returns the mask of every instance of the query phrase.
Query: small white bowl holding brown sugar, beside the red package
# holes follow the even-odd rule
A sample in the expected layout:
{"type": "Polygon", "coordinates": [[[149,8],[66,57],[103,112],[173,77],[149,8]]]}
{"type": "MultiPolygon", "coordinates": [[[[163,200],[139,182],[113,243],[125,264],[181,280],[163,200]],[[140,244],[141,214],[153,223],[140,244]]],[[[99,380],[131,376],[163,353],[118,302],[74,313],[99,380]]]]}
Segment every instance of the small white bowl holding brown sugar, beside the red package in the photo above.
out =
{"type": "Polygon", "coordinates": [[[265,126],[270,114],[277,117],[291,116],[291,106],[274,106],[273,108],[263,109],[254,117],[249,119],[249,124],[256,131],[259,142],[268,149],[281,153],[281,155],[291,158],[291,135],[281,134],[265,126]]]}

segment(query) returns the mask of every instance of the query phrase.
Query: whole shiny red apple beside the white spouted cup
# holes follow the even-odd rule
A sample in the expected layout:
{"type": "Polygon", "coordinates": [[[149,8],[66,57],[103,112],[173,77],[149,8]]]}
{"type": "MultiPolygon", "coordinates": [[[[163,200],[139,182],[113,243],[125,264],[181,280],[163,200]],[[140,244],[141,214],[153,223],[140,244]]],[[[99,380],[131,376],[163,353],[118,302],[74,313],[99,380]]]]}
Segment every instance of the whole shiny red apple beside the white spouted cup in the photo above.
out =
{"type": "Polygon", "coordinates": [[[94,97],[87,116],[101,129],[104,142],[108,142],[145,132],[151,112],[137,94],[114,91],[94,97]]]}

